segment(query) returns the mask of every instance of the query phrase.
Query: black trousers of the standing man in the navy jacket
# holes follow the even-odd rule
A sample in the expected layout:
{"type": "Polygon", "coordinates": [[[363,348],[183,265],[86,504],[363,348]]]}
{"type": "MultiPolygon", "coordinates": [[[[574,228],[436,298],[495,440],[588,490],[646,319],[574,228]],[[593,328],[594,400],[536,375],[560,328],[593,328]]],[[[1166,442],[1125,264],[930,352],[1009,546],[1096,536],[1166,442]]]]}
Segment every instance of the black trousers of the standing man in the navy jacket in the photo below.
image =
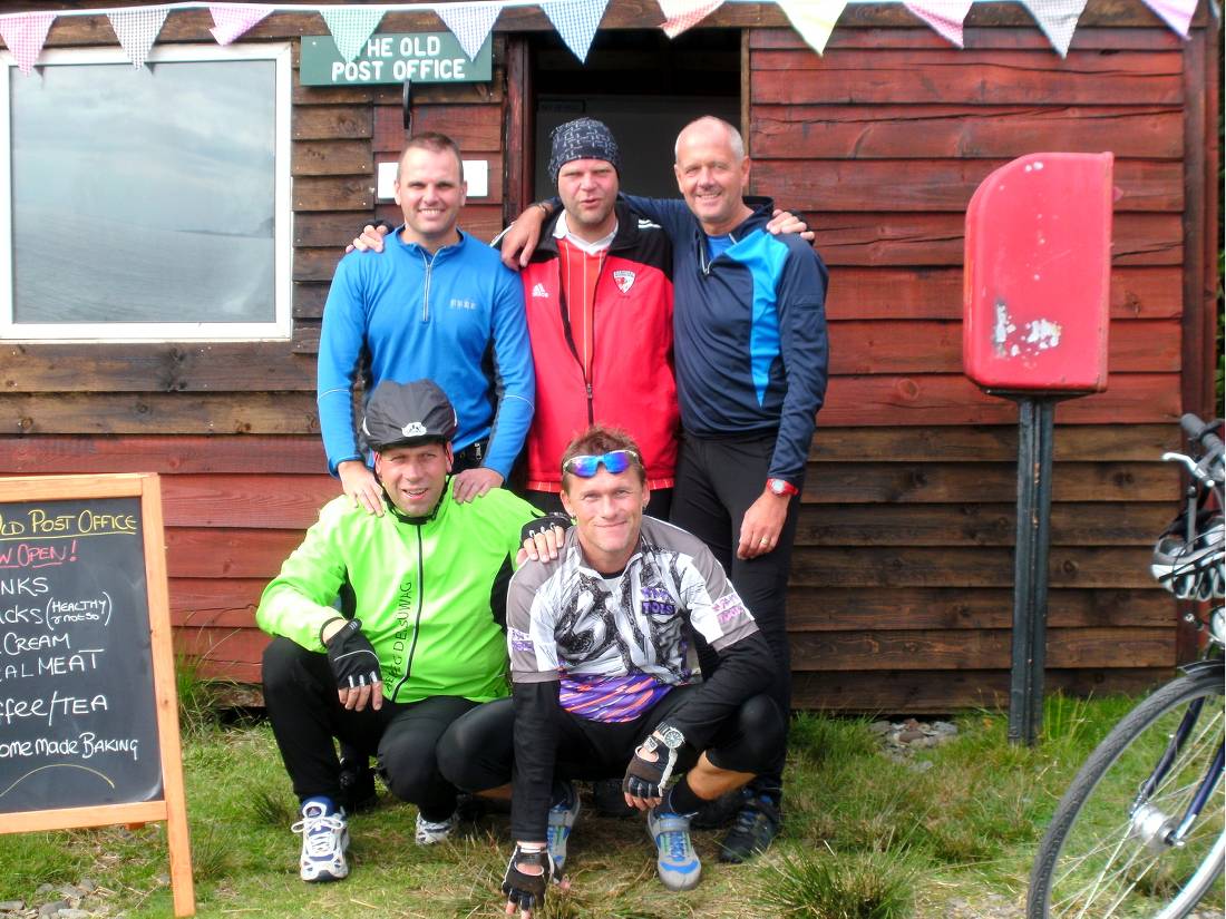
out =
{"type": "MultiPolygon", "coordinates": [[[[677,486],[673,489],[672,523],[687,529],[704,543],[732,578],[747,609],[758,622],[775,657],[774,680],[767,694],[783,714],[782,743],[754,784],[776,790],[781,787],[786,755],[787,716],[792,709],[792,652],[787,641],[787,573],[792,564],[792,543],[801,501],[788,502],[787,518],[772,551],[756,559],[738,559],[741,523],[745,511],[766,486],[775,434],[754,437],[682,437],[677,462],[677,486]]],[[[803,485],[803,480],[797,486],[803,485]]],[[[701,636],[698,637],[699,663],[710,674],[718,658],[701,636]]]]}

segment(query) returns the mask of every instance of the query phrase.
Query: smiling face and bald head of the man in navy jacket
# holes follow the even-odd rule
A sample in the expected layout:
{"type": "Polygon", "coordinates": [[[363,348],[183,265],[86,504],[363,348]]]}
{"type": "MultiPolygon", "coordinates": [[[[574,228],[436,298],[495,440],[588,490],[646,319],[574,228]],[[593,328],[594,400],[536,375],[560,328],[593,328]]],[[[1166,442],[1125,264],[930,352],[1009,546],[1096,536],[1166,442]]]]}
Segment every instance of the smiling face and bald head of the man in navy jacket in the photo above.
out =
{"type": "Polygon", "coordinates": [[[749,183],[749,159],[738,156],[721,121],[699,119],[680,132],[673,173],[682,197],[709,235],[728,233],[752,213],[741,199],[749,183]]]}

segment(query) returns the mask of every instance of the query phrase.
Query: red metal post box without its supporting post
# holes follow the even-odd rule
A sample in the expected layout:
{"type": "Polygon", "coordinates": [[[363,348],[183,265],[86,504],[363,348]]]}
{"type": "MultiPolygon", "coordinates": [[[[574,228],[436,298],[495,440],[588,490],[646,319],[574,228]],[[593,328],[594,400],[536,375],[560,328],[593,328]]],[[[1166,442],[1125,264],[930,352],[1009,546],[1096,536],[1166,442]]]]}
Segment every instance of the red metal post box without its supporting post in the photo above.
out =
{"type": "Polygon", "coordinates": [[[993,392],[1107,386],[1111,153],[1032,153],[966,211],[962,361],[993,392]]]}

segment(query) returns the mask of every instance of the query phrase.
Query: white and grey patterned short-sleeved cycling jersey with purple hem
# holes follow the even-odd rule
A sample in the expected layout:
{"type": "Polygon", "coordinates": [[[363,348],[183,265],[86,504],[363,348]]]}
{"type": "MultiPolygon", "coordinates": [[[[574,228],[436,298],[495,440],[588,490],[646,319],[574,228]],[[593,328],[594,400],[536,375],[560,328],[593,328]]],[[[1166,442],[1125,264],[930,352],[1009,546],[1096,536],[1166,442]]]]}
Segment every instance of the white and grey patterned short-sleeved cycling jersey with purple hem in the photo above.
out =
{"type": "Polygon", "coordinates": [[[560,680],[563,708],[601,722],[631,720],[698,676],[693,633],[716,651],[758,631],[700,539],[644,517],[620,577],[584,558],[576,528],[555,561],[511,578],[508,647],[515,683],[560,680]]]}

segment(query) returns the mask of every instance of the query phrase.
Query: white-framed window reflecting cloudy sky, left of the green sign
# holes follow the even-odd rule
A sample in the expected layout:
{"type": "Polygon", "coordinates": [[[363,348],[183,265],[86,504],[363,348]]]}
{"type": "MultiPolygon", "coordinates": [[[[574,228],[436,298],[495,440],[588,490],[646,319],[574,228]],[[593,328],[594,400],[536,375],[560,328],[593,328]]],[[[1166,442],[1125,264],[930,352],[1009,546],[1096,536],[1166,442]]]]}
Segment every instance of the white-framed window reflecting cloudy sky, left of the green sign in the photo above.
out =
{"type": "Polygon", "coordinates": [[[287,43],[0,65],[0,338],[289,337],[287,43]]]}

